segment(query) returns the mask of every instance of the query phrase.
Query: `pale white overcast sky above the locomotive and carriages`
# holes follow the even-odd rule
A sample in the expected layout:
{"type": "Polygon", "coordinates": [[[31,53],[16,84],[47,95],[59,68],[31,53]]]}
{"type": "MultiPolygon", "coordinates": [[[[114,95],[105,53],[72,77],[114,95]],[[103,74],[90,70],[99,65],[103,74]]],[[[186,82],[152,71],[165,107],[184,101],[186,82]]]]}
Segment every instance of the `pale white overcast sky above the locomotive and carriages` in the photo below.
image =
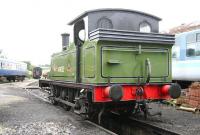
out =
{"type": "Polygon", "coordinates": [[[126,8],[162,18],[160,31],[200,20],[198,0],[0,0],[0,49],[10,59],[49,64],[67,23],[96,8],[126,8]]]}

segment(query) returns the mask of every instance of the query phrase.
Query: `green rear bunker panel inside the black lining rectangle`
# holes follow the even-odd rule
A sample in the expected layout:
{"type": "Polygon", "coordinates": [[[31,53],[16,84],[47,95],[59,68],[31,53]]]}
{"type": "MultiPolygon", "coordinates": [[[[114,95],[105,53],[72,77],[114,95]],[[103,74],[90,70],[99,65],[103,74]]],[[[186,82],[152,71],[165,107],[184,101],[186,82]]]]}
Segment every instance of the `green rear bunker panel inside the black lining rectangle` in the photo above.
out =
{"type": "Polygon", "coordinates": [[[150,59],[152,77],[166,76],[168,74],[167,50],[138,49],[133,47],[103,47],[102,49],[102,76],[104,77],[141,77],[144,76],[145,60],[150,59]],[[144,52],[143,52],[144,51],[144,52]],[[165,61],[163,61],[165,60],[165,61]],[[160,63],[157,63],[160,61],[160,63]],[[157,70],[161,68],[162,70],[157,70]]]}

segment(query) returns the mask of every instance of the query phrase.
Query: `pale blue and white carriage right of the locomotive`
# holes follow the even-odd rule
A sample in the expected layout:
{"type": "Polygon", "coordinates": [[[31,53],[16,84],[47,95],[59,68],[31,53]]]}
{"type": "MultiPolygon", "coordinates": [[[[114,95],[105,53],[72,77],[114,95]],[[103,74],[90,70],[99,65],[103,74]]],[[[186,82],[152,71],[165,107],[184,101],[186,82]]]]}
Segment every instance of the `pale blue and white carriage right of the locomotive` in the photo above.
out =
{"type": "Polygon", "coordinates": [[[200,81],[199,71],[200,29],[177,34],[172,48],[173,80],[187,87],[193,81],[200,81]]]}

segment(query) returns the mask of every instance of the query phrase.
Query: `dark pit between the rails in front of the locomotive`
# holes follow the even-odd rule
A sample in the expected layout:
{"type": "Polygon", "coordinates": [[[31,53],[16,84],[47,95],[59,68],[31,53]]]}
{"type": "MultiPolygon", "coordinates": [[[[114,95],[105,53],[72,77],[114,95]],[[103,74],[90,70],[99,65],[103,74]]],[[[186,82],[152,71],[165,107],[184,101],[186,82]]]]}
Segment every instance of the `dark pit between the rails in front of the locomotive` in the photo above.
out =
{"type": "Polygon", "coordinates": [[[106,119],[103,122],[105,128],[120,135],[180,135],[177,132],[151,124],[145,120],[139,120],[132,116],[122,117],[115,112],[111,112],[104,119],[106,119]],[[109,123],[112,125],[109,125],[109,123]]]}

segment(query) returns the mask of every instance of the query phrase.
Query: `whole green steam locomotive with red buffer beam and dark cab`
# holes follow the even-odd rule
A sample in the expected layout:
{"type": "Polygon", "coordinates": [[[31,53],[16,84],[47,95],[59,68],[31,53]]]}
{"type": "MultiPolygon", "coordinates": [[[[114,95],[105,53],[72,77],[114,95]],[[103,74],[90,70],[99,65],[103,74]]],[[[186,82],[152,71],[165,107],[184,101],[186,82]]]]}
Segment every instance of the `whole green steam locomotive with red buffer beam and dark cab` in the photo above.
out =
{"type": "Polygon", "coordinates": [[[171,83],[174,35],[159,34],[161,19],[125,9],[87,11],[62,34],[62,51],[52,55],[49,88],[53,104],[99,120],[106,111],[147,116],[146,102],[178,98],[171,83]],[[70,43],[69,43],[70,41],[70,43]]]}

